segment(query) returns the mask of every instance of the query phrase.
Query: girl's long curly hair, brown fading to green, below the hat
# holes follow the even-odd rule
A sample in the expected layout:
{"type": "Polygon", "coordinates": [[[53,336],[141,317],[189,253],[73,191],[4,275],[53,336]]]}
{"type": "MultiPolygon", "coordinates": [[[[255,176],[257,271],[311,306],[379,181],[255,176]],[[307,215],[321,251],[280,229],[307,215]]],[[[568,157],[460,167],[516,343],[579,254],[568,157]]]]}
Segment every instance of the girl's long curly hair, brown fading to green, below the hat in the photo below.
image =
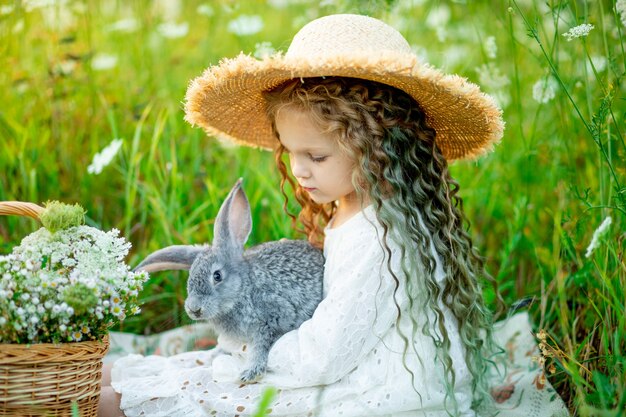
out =
{"type": "MultiPolygon", "coordinates": [[[[281,109],[289,107],[306,111],[322,130],[338,138],[342,151],[356,161],[352,182],[361,201],[368,197],[374,204],[384,231],[382,240],[388,260],[391,258],[388,237],[401,229],[393,236],[401,239],[397,243],[402,259],[408,259],[408,265],[402,267],[405,277],[394,274],[389,261],[388,268],[396,291],[401,280],[407,284],[408,311],[414,331],[418,317],[429,317],[434,313],[434,322],[428,319],[421,330],[432,338],[444,367],[446,408],[450,410],[451,406],[454,411],[457,404],[453,394],[455,371],[441,303],[457,321],[465,348],[465,362],[473,377],[474,406],[489,401],[487,366],[497,348],[492,338],[493,315],[485,306],[481,283],[486,281],[494,287],[500,307],[502,299],[495,279],[486,273],[484,259],[466,232],[465,226],[469,225],[458,196],[459,185],[450,176],[447,161],[435,140],[436,132],[428,126],[419,104],[402,90],[343,77],[294,79],[265,92],[264,97],[275,133],[275,119],[281,109]],[[428,233],[424,232],[422,225],[428,233]],[[443,285],[435,279],[436,262],[430,250],[431,242],[443,263],[443,285]],[[413,248],[417,249],[418,256],[405,256],[413,248]],[[416,297],[411,296],[416,289],[425,293],[424,302],[416,302],[416,297]],[[428,313],[427,309],[431,314],[424,314],[428,313]]],[[[321,247],[323,229],[336,211],[336,204],[320,205],[311,200],[289,175],[284,152],[279,144],[275,160],[281,174],[284,209],[294,226],[299,227],[299,221],[303,226],[299,230],[311,243],[321,247]],[[287,211],[287,184],[302,206],[297,218],[287,211]]],[[[402,312],[397,301],[394,302],[399,322],[402,312]]],[[[410,335],[401,336],[406,354],[410,335]]]]}

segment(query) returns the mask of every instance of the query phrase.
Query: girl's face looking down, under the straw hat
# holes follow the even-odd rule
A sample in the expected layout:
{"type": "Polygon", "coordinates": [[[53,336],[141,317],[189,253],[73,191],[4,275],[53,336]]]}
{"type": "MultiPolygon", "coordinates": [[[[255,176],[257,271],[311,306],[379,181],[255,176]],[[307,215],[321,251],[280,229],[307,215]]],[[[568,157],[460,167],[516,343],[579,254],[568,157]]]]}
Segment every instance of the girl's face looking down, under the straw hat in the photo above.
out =
{"type": "Polygon", "coordinates": [[[325,204],[338,200],[341,212],[354,204],[354,163],[341,152],[333,136],[322,132],[306,112],[291,107],[278,112],[276,130],[289,153],[291,173],[313,201],[325,204]]]}

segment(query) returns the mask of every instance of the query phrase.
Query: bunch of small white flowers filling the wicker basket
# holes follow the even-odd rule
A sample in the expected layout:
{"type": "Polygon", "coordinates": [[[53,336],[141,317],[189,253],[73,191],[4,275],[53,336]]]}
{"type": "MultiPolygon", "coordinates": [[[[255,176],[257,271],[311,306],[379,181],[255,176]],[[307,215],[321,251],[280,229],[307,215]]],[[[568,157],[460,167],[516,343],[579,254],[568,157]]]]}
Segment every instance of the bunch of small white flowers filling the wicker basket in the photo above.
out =
{"type": "Polygon", "coordinates": [[[130,271],[130,243],[116,229],[41,228],[0,256],[0,343],[100,340],[137,314],[148,279],[130,271]]]}

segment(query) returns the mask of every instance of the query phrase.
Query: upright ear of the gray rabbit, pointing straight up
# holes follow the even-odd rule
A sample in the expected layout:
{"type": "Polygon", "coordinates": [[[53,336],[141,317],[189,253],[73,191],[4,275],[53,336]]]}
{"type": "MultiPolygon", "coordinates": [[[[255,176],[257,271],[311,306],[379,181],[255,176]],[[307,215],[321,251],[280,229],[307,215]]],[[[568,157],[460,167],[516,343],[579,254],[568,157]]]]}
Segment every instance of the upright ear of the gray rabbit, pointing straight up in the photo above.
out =
{"type": "Polygon", "coordinates": [[[252,229],[250,203],[248,203],[248,198],[241,188],[241,181],[242,179],[239,178],[222,203],[222,207],[220,207],[215,218],[213,230],[213,245],[228,250],[232,249],[236,253],[243,252],[243,245],[248,240],[252,229]]]}

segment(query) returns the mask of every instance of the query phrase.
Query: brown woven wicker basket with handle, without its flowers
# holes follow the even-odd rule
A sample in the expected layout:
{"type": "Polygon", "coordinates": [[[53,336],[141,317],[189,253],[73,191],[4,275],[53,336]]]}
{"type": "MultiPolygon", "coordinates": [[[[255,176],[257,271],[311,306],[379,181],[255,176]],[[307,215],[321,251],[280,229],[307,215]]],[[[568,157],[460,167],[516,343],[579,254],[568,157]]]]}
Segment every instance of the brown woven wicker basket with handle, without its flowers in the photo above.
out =
{"type": "MultiPolygon", "coordinates": [[[[0,202],[0,215],[39,218],[42,207],[16,201],[0,202]]],[[[0,344],[0,416],[96,417],[100,400],[102,358],[109,349],[101,342],[0,344]]]]}

